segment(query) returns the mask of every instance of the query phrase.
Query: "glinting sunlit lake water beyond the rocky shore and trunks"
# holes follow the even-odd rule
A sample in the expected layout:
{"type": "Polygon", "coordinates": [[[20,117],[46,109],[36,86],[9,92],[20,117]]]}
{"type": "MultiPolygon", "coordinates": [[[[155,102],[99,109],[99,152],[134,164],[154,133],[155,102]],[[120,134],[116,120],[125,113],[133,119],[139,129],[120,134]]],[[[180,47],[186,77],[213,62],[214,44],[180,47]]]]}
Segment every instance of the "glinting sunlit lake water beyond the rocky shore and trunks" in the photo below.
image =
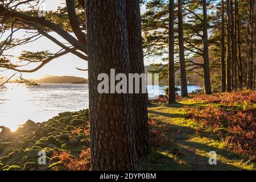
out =
{"type": "MultiPolygon", "coordinates": [[[[0,89],[0,126],[17,129],[28,119],[47,121],[64,111],[78,111],[89,107],[89,90],[86,84],[6,84],[0,89]]],[[[188,91],[200,89],[188,86],[188,91]]],[[[148,86],[150,96],[164,94],[163,86],[148,86]],[[157,91],[157,92],[156,92],[157,91]]]]}

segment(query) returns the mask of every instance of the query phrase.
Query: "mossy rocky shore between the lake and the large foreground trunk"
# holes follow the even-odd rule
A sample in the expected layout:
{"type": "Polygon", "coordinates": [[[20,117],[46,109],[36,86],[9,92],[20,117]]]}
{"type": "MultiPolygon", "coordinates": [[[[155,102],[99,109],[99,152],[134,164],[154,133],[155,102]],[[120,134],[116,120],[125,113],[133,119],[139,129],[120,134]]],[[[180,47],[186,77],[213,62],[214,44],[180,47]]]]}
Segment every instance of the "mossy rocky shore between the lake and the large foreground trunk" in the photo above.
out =
{"type": "Polygon", "coordinates": [[[51,170],[61,161],[53,152],[76,158],[89,148],[89,110],[60,113],[46,122],[28,120],[15,132],[1,126],[0,171],[51,170]],[[39,162],[46,155],[46,163],[39,162]]]}

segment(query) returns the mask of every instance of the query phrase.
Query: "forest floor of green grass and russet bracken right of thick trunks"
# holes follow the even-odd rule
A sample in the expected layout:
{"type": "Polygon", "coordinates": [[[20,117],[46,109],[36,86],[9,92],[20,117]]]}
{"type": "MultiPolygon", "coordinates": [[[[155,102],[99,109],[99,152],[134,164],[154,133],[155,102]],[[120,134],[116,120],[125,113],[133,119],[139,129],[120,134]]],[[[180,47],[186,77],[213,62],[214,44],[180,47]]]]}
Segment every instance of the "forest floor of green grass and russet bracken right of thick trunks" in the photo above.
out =
{"type": "Polygon", "coordinates": [[[237,92],[149,106],[153,148],[139,169],[255,170],[255,101],[256,92],[237,92]],[[216,165],[209,164],[210,151],[216,165]]]}

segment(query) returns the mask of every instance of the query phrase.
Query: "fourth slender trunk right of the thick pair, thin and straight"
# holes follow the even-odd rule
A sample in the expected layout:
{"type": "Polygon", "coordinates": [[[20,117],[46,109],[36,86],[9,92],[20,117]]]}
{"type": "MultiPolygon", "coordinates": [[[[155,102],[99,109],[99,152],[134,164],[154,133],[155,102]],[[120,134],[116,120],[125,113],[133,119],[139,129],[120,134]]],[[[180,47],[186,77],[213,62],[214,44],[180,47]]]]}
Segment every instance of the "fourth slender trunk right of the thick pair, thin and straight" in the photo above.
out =
{"type": "Polygon", "coordinates": [[[226,92],[225,3],[221,0],[221,89],[226,92]]]}

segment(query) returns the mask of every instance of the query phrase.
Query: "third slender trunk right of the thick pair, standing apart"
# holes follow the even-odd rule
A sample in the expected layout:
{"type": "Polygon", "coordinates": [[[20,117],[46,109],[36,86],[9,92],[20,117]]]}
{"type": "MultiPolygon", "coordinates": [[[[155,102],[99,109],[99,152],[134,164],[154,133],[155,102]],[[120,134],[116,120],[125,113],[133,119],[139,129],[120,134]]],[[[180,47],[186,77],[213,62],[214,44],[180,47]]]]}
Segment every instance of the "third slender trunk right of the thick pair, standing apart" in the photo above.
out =
{"type": "Polygon", "coordinates": [[[203,42],[204,42],[204,89],[206,94],[211,94],[210,68],[209,68],[209,47],[208,47],[208,23],[207,23],[207,1],[203,0],[203,42]]]}

